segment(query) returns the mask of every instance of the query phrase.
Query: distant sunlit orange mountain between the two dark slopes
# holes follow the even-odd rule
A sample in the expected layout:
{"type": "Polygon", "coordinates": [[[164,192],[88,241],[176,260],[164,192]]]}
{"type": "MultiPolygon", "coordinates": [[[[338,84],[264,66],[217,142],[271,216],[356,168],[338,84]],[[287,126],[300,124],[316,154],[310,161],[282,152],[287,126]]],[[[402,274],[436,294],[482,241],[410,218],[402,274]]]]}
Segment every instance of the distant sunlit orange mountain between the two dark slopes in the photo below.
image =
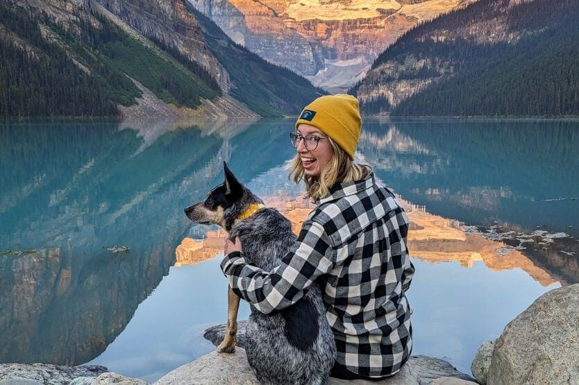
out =
{"type": "Polygon", "coordinates": [[[472,0],[187,0],[235,42],[331,92],[409,28],[472,0]]]}

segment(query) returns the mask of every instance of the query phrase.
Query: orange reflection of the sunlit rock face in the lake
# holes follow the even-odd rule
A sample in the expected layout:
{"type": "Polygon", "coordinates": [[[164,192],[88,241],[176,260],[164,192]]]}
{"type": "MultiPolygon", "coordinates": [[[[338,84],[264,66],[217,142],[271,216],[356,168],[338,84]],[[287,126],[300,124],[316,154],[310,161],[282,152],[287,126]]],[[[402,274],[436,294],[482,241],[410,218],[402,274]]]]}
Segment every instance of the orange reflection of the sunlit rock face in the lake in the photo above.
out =
{"type": "MultiPolygon", "coordinates": [[[[287,195],[263,199],[267,207],[275,207],[290,220],[294,234],[299,234],[303,221],[314,208],[308,200],[287,195]]],[[[400,200],[410,219],[408,248],[411,257],[430,263],[454,261],[465,268],[484,262],[495,271],[521,268],[543,286],[557,282],[545,268],[537,266],[520,250],[509,248],[503,241],[489,239],[480,232],[467,232],[458,221],[430,214],[423,206],[400,200]]],[[[175,266],[198,264],[216,257],[223,253],[226,237],[227,233],[219,229],[209,230],[203,239],[183,239],[175,250],[175,266]]]]}

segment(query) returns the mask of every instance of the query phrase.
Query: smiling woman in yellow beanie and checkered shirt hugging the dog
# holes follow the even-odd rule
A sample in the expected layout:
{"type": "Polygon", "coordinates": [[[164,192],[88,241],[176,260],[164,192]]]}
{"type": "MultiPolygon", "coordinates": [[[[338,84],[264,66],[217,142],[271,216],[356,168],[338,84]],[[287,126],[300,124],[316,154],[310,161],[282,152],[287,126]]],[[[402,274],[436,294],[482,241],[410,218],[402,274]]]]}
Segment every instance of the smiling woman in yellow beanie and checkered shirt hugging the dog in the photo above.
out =
{"type": "Polygon", "coordinates": [[[221,262],[237,295],[266,314],[319,284],[337,347],[330,375],[342,379],[394,375],[412,350],[408,217],[369,166],[353,162],[361,128],[353,96],[310,103],[291,134],[297,153],[290,176],[305,181],[317,207],[274,270],[246,264],[238,239],[226,241],[221,262]]]}

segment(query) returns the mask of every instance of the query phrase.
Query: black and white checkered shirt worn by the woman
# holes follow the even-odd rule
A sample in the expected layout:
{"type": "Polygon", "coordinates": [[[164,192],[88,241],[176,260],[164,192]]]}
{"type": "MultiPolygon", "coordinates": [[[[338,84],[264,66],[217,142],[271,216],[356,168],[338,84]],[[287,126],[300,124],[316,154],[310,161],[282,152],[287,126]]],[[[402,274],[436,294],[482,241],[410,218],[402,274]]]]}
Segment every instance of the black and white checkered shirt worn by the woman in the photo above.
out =
{"type": "Polygon", "coordinates": [[[317,203],[280,266],[262,271],[230,253],[221,268],[234,291],[266,314],[319,282],[337,362],[368,377],[396,373],[412,350],[408,216],[374,174],[336,185],[317,203]]]}

